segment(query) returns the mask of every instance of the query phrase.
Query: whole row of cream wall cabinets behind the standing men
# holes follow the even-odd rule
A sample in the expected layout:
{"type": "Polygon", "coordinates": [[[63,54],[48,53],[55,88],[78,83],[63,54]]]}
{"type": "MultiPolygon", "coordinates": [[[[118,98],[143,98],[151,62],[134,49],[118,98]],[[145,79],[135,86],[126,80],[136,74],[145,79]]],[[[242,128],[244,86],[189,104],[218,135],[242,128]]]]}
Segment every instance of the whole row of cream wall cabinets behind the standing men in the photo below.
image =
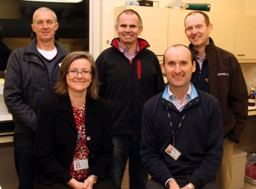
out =
{"type": "MultiPolygon", "coordinates": [[[[191,10],[122,6],[114,8],[114,18],[125,9],[134,9],[140,14],[143,31],[139,37],[149,42],[149,49],[156,55],[163,55],[174,44],[190,44],[185,35],[184,19],[191,10]]],[[[210,37],[216,46],[235,54],[240,63],[256,62],[256,15],[206,14],[213,24],[210,37]]]]}

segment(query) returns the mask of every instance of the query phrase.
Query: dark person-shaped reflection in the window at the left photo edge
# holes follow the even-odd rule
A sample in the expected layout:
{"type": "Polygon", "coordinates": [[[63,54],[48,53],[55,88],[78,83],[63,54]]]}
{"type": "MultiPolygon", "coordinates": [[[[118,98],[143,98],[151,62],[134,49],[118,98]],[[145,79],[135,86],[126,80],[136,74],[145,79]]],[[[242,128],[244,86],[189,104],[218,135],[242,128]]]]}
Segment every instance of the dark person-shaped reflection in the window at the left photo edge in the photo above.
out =
{"type": "Polygon", "coordinates": [[[2,27],[0,27],[0,71],[6,70],[7,60],[12,50],[9,50],[2,39],[5,36],[5,32],[2,27]]]}

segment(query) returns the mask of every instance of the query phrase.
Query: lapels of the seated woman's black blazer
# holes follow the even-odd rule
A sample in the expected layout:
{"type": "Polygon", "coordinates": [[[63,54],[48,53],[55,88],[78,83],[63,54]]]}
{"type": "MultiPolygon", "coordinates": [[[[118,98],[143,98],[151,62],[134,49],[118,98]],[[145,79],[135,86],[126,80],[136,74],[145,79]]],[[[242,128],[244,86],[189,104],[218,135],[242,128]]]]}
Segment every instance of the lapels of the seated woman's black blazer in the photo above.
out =
{"type": "MultiPolygon", "coordinates": [[[[60,111],[64,113],[64,116],[68,120],[73,130],[77,133],[76,124],[73,116],[73,110],[69,95],[61,97],[60,111]]],[[[94,123],[96,112],[99,111],[99,103],[96,99],[92,99],[89,95],[86,96],[85,105],[85,132],[88,134],[94,123]]]]}

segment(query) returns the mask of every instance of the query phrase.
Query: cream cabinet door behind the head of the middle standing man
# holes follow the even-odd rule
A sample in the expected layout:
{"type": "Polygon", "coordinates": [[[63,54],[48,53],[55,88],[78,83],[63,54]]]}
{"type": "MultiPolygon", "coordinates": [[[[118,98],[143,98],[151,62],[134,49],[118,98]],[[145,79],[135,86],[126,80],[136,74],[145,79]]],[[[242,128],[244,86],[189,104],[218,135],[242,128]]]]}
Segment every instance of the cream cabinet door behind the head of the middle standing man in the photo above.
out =
{"type": "MultiPolygon", "coordinates": [[[[139,38],[147,40],[156,55],[163,55],[167,49],[168,9],[142,6],[122,6],[114,8],[114,23],[117,16],[125,9],[133,9],[140,14],[143,31],[139,38]]],[[[115,37],[118,37],[114,31],[115,37]]]]}

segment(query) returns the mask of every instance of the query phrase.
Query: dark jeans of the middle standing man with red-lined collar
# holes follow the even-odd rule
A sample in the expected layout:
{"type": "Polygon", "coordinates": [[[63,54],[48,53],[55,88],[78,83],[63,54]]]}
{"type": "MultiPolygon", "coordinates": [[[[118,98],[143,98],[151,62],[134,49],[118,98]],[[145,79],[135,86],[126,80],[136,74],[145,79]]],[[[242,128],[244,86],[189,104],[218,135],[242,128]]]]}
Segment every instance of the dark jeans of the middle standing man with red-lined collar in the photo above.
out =
{"type": "Polygon", "coordinates": [[[141,135],[113,135],[113,163],[110,171],[117,189],[121,189],[123,172],[129,157],[130,189],[145,189],[148,174],[140,159],[141,135]]]}

